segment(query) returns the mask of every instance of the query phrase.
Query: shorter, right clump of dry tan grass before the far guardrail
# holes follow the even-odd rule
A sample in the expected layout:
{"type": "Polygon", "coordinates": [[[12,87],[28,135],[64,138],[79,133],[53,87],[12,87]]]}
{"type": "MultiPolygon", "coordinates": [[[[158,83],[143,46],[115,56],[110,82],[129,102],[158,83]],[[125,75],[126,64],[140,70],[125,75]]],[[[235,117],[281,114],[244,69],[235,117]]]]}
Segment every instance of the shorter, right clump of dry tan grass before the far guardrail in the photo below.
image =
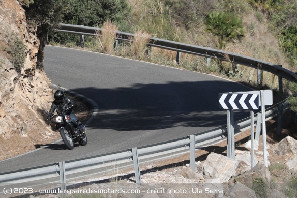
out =
{"type": "Polygon", "coordinates": [[[133,41],[131,42],[131,48],[133,55],[141,58],[147,50],[147,43],[149,43],[151,35],[143,31],[137,31],[134,34],[133,41]]]}

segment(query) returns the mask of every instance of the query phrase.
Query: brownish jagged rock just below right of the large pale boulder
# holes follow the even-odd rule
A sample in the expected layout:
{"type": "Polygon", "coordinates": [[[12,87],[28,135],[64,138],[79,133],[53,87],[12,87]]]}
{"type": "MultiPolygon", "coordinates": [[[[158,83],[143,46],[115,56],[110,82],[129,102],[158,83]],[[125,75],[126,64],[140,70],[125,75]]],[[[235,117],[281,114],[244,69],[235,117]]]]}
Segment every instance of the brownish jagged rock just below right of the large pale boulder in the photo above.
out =
{"type": "Polygon", "coordinates": [[[236,181],[242,184],[251,185],[254,178],[262,178],[264,181],[270,182],[270,172],[268,167],[266,167],[264,164],[257,164],[250,171],[237,176],[236,181]]]}

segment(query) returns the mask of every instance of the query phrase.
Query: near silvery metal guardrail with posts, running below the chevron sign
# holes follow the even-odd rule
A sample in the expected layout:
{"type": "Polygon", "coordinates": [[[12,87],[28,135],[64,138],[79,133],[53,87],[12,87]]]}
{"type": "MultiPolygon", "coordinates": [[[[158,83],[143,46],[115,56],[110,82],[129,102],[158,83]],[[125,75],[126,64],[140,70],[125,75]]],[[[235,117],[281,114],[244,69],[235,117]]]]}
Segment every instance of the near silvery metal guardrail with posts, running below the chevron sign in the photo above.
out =
{"type": "MultiPolygon", "coordinates": [[[[279,106],[281,106],[282,110],[285,111],[289,108],[289,103],[288,101],[283,101],[266,109],[266,120],[269,120],[277,115],[282,115],[282,112],[279,112],[279,106]]],[[[255,122],[261,122],[261,119],[258,118],[258,114],[255,114],[254,120],[255,122]]],[[[235,122],[234,133],[239,134],[247,128],[250,128],[250,124],[250,117],[235,122]]],[[[257,130],[256,133],[260,133],[260,130],[257,130]]],[[[224,125],[215,129],[197,133],[195,135],[168,140],[167,142],[132,148],[94,157],[59,162],[31,169],[1,173],[0,187],[60,176],[61,189],[66,189],[66,175],[84,171],[91,171],[94,169],[96,169],[96,174],[101,174],[110,171],[107,169],[107,167],[109,166],[112,167],[116,165],[117,168],[124,168],[131,167],[133,166],[133,164],[136,183],[140,183],[140,163],[147,163],[159,159],[181,155],[184,153],[188,153],[189,150],[191,152],[195,152],[196,148],[212,145],[226,138],[227,127],[226,125],[224,125]],[[195,144],[192,144],[191,147],[191,143],[195,144]]],[[[192,155],[190,157],[190,164],[194,164],[193,162],[195,163],[195,155],[194,157],[192,155]]],[[[71,177],[69,177],[68,179],[71,179],[71,177]]]]}

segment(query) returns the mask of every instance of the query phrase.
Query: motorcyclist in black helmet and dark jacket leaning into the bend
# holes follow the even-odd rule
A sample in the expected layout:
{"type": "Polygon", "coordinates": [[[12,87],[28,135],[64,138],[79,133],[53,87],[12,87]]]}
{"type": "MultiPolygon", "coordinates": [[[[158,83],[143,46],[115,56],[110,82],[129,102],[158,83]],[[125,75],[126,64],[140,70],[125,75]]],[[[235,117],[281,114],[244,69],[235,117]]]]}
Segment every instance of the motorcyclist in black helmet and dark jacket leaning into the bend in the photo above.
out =
{"type": "MultiPolygon", "coordinates": [[[[57,90],[54,93],[54,101],[51,104],[50,110],[48,112],[47,119],[53,117],[53,112],[56,110],[57,114],[60,114],[64,109],[73,107],[75,102],[71,100],[69,97],[64,96],[63,90],[57,90]]],[[[69,115],[71,122],[74,124],[74,127],[79,129],[83,134],[85,133],[85,127],[78,120],[77,116],[74,114],[73,108],[69,108],[65,114],[69,115]]]]}

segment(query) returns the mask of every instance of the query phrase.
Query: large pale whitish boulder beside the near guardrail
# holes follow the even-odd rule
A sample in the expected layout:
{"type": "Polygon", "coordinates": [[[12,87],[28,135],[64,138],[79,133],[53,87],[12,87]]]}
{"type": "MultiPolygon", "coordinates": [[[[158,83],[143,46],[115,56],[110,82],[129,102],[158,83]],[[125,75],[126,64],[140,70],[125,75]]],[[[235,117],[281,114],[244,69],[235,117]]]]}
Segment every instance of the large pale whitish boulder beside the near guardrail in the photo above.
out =
{"type": "Polygon", "coordinates": [[[228,182],[236,174],[239,162],[226,156],[211,153],[203,163],[204,175],[220,178],[222,183],[228,182]]]}

